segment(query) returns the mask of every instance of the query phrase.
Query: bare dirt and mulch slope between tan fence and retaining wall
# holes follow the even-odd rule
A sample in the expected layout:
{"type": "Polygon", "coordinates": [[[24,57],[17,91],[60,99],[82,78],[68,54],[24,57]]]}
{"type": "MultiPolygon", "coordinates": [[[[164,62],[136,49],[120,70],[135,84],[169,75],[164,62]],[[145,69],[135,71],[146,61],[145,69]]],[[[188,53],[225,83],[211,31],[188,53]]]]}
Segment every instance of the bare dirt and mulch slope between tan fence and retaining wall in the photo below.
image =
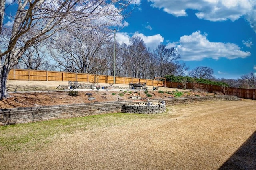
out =
{"type": "MultiPolygon", "coordinates": [[[[207,96],[214,95],[213,93],[204,92],[192,92],[191,90],[184,91],[182,89],[172,89],[160,87],[160,90],[168,93],[159,93],[153,91],[152,86],[148,87],[148,93],[152,97],[147,97],[143,90],[84,90],[78,91],[78,96],[73,97],[68,95],[68,90],[57,89],[59,85],[68,85],[68,82],[62,81],[8,81],[7,91],[12,96],[0,101],[0,108],[7,109],[13,107],[36,107],[36,106],[49,106],[49,105],[67,105],[78,103],[93,103],[104,101],[130,101],[134,100],[131,97],[140,96],[140,100],[150,99],[168,99],[175,97],[174,91],[182,91],[181,97],[187,96],[207,96]],[[90,97],[94,97],[94,100],[89,100],[90,97]]],[[[108,84],[99,84],[108,85],[108,84]]],[[[128,85],[114,86],[127,87],[128,85]]]]}

